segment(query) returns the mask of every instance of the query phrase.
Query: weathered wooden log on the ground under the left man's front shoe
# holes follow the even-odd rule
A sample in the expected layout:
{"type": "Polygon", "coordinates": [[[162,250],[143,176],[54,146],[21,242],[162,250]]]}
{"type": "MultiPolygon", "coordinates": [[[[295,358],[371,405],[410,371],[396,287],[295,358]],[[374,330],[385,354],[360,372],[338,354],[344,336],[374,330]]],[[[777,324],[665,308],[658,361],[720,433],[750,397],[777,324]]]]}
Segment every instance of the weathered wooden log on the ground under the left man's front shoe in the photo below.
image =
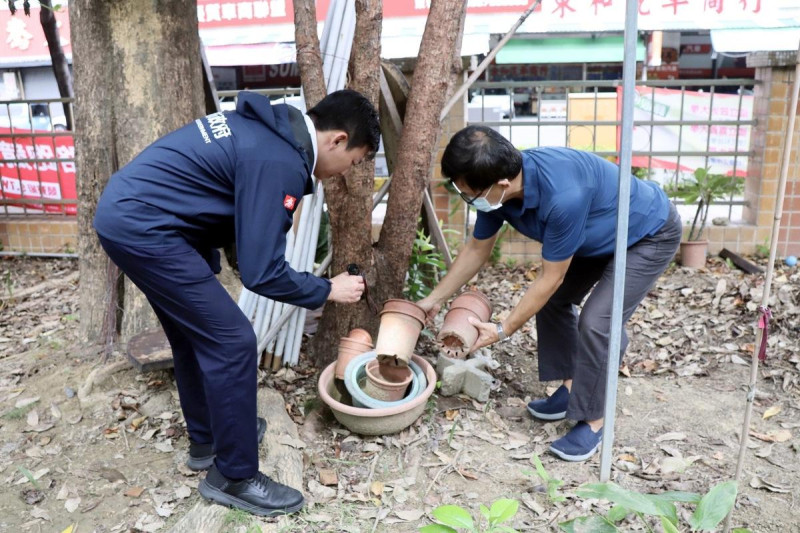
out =
{"type": "MultiPolygon", "coordinates": [[[[302,491],[305,443],[298,438],[297,426],[286,413],[283,396],[272,389],[260,389],[258,414],[267,420],[267,433],[258,449],[259,469],[272,479],[302,491]]],[[[222,505],[200,501],[172,526],[170,533],[224,531],[228,512],[222,505]]],[[[289,520],[283,517],[277,522],[261,521],[259,525],[261,531],[279,531],[289,520]]]]}

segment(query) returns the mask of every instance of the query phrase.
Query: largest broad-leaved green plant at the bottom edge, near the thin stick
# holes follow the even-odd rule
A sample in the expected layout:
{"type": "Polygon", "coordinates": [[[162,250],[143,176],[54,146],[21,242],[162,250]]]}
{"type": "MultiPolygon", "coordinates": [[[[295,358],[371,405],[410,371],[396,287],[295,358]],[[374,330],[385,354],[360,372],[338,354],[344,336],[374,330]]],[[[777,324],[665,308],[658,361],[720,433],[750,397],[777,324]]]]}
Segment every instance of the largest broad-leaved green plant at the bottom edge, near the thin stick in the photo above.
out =
{"type": "MultiPolygon", "coordinates": [[[[725,481],[711,488],[705,496],[694,492],[662,492],[661,494],[640,494],[623,489],[614,483],[587,483],[581,485],[576,494],[582,498],[608,500],[614,504],[606,515],[581,516],[561,522],[559,527],[567,533],[614,533],[627,531],[619,529],[617,522],[629,514],[635,514],[644,523],[647,531],[653,532],[646,516],[657,517],[665,533],[679,533],[678,510],[676,502],[696,504],[689,518],[692,531],[713,531],[733,508],[736,501],[736,482],[725,481]]],[[[744,533],[746,530],[738,530],[744,533]]]]}

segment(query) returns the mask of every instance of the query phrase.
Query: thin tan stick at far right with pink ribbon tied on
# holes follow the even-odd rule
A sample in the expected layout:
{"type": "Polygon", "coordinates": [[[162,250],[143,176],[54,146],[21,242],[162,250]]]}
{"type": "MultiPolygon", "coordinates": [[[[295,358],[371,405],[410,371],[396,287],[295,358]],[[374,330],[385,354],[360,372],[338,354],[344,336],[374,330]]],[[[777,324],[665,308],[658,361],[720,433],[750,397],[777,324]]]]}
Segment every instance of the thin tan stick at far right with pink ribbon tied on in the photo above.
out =
{"type": "MultiPolygon", "coordinates": [[[[797,118],[797,98],[800,93],[800,46],[797,50],[797,65],[794,70],[794,84],[792,85],[792,103],[789,106],[789,120],[786,123],[786,130],[783,136],[783,157],[781,158],[781,177],[778,183],[778,197],[775,200],[775,216],[772,220],[772,237],[769,246],[769,262],[767,263],[766,281],[764,282],[764,290],[761,293],[761,307],[765,308],[769,304],[769,293],[772,286],[772,271],[775,267],[775,256],[778,252],[778,234],[781,229],[781,217],[783,217],[783,200],[786,194],[786,180],[789,174],[789,163],[791,162],[792,155],[792,137],[794,136],[794,124],[797,118]]],[[[747,451],[747,439],[750,436],[750,417],[753,414],[753,400],[756,397],[756,379],[758,378],[758,351],[761,346],[761,337],[764,333],[763,329],[758,329],[756,334],[756,342],[753,345],[753,358],[750,363],[750,386],[747,389],[746,406],[744,410],[744,422],[742,423],[741,435],[739,435],[739,458],[736,461],[736,475],[734,481],[737,486],[739,478],[742,476],[742,468],[744,467],[744,455],[747,451]]],[[[733,508],[725,518],[725,533],[731,530],[731,518],[733,517],[733,508]]]]}

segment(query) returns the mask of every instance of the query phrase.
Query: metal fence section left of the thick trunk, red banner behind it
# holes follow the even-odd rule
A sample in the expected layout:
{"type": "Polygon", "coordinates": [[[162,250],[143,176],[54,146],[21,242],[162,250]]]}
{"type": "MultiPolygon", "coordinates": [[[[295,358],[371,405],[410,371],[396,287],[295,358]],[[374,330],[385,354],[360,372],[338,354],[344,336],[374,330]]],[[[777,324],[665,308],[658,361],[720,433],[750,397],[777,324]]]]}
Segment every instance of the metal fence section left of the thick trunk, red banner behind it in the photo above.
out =
{"type": "Polygon", "coordinates": [[[0,101],[0,216],[74,215],[72,99],[0,101]]]}

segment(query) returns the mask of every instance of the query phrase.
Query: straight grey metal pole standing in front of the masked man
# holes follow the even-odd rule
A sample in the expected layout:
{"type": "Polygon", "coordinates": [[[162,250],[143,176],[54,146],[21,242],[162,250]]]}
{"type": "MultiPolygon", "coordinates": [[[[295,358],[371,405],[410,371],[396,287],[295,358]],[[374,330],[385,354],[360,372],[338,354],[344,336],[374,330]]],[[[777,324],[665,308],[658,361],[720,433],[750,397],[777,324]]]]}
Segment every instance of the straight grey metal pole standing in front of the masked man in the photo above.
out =
{"type": "Polygon", "coordinates": [[[617,374],[619,373],[619,352],[623,328],[622,308],[631,196],[631,137],[633,135],[633,95],[636,84],[636,17],[638,13],[638,1],[628,0],[625,8],[625,56],[622,64],[622,134],[619,154],[617,244],[614,250],[614,299],[611,308],[611,338],[608,345],[603,445],[600,451],[600,481],[602,482],[608,481],[611,477],[611,450],[614,447],[614,417],[617,407],[617,374]]]}

